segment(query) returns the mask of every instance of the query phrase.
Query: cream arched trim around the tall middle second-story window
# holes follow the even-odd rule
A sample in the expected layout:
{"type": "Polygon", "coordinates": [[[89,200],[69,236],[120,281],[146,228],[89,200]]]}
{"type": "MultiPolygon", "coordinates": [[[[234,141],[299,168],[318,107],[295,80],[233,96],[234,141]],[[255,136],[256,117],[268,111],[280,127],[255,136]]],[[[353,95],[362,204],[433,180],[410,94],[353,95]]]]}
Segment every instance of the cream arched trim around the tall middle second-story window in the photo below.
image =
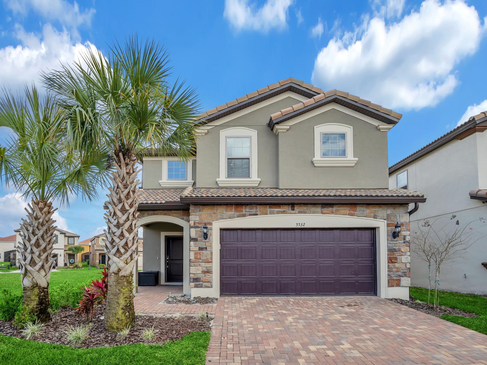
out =
{"type": "Polygon", "coordinates": [[[257,130],[245,127],[232,127],[220,131],[220,173],[216,179],[220,187],[258,186],[261,179],[257,177],[257,130]],[[250,137],[250,177],[226,177],[226,138],[250,137]]]}

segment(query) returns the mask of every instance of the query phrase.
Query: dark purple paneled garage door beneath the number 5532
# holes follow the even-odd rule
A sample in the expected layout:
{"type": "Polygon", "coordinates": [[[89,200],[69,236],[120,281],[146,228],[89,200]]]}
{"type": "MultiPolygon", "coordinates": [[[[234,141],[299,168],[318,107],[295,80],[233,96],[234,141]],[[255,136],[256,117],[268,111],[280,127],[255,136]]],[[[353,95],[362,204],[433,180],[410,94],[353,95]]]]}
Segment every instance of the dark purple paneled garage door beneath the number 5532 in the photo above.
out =
{"type": "Polygon", "coordinates": [[[375,295],[373,229],[225,229],[221,295],[375,295]]]}

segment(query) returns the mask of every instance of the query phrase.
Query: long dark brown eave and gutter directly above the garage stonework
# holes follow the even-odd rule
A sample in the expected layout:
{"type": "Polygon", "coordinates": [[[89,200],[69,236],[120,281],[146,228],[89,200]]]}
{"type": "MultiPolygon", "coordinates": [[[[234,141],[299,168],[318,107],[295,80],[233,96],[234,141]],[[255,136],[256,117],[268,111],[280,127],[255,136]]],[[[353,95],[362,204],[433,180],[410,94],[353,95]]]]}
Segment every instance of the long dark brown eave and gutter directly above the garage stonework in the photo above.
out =
{"type": "Polygon", "coordinates": [[[424,203],[424,197],[198,197],[181,198],[191,204],[409,204],[424,203]]]}

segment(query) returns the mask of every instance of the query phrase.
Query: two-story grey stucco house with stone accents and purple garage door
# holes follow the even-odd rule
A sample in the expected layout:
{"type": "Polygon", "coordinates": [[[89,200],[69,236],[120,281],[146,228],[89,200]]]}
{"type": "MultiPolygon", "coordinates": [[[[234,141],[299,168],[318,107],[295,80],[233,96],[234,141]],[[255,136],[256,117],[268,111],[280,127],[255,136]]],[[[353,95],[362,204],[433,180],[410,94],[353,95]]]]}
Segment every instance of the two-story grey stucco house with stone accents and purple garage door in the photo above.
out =
{"type": "Polygon", "coordinates": [[[193,296],[409,299],[408,206],[426,199],[389,189],[400,118],[292,78],[206,111],[193,158],[143,159],[144,270],[193,296]]]}

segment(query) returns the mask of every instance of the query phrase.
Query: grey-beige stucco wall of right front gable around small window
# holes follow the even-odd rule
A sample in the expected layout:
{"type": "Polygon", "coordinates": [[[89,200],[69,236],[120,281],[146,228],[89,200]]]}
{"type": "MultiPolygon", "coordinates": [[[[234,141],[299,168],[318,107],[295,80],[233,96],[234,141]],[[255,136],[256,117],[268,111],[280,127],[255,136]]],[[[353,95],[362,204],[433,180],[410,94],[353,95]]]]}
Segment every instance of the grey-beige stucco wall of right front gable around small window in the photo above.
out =
{"type": "MultiPolygon", "coordinates": [[[[305,114],[304,114],[305,115],[305,114]]],[[[296,123],[279,133],[279,188],[346,189],[387,188],[387,132],[331,109],[296,123]],[[353,128],[353,167],[315,167],[314,127],[339,123],[353,128]]],[[[352,156],[349,156],[352,157],[352,156]]]]}

